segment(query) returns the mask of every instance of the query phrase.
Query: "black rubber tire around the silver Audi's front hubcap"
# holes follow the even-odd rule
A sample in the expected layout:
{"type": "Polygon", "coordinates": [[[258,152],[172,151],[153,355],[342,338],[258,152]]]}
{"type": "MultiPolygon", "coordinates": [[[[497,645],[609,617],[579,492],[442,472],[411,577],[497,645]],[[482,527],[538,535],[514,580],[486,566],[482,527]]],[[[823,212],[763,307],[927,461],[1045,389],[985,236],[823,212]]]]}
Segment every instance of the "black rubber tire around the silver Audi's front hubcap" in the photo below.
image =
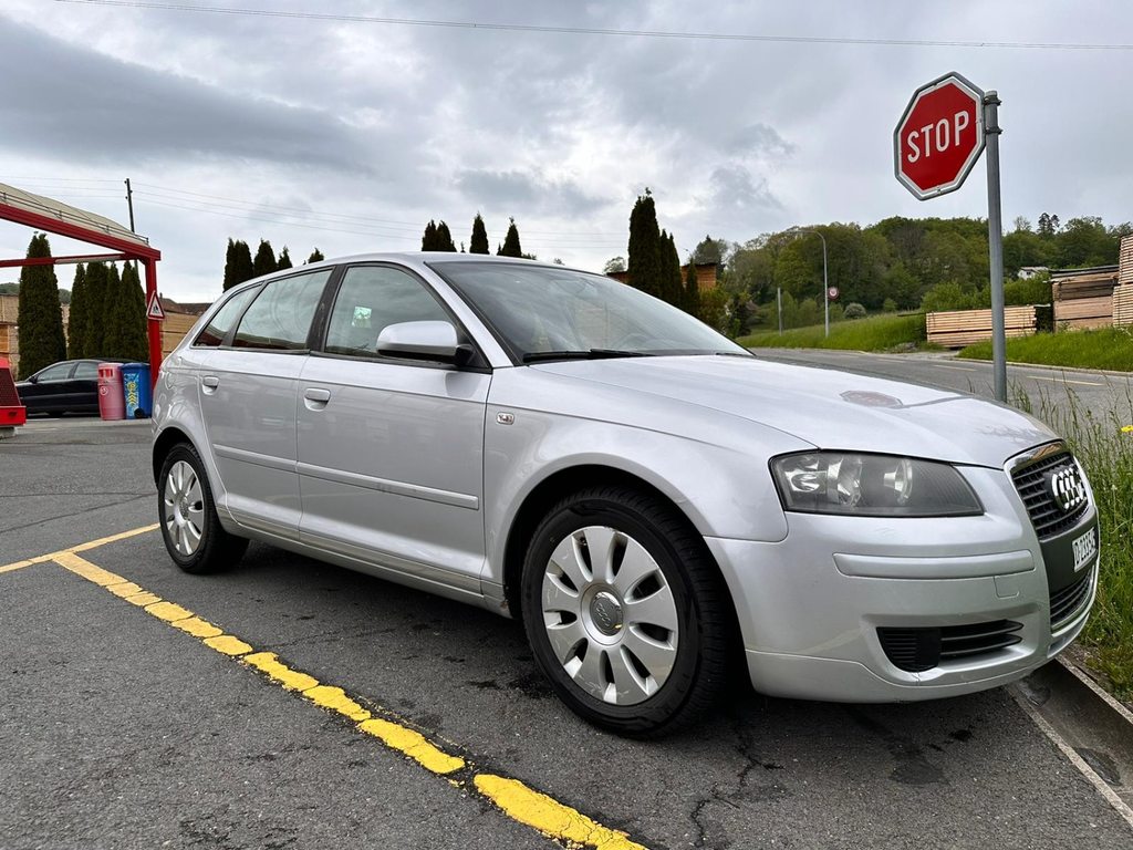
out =
{"type": "MultiPolygon", "coordinates": [[[[616,545],[611,546],[610,551],[616,551],[616,545]]],[[[612,556],[611,562],[616,561],[616,558],[612,556]]],[[[556,568],[550,567],[550,569],[554,571],[556,568]]],[[[559,580],[562,580],[562,573],[557,575],[559,580]]],[[[648,580],[656,581],[656,579],[648,580]]],[[[568,583],[573,586],[569,579],[568,583]]],[[[645,584],[642,581],[639,586],[645,584]]],[[[610,586],[604,585],[604,587],[610,586]]],[[[590,585],[587,593],[594,589],[595,586],[590,585]]],[[[520,593],[523,627],[540,670],[571,711],[597,726],[634,738],[670,734],[688,725],[708,709],[724,687],[730,671],[733,619],[723,579],[712,562],[702,537],[682,515],[657,496],[623,486],[598,486],[563,499],[551,509],[531,537],[523,562],[520,593]],[[581,529],[596,527],[599,530],[614,529],[619,533],[616,539],[622,539],[621,536],[624,535],[631,545],[640,544],[659,568],[671,590],[671,598],[675,603],[678,623],[675,634],[679,635],[679,639],[675,660],[667,668],[667,679],[655,692],[630,705],[617,705],[608,698],[599,699],[577,682],[568,673],[565,662],[556,656],[552,646],[548,628],[554,627],[545,624],[543,593],[545,580],[551,580],[546,576],[552,554],[566,537],[582,535],[581,529]]],[[[587,594],[579,588],[579,600],[586,596],[587,594]]],[[[621,623],[622,611],[628,612],[630,604],[632,602],[625,596],[621,605],[615,606],[617,623],[613,626],[608,621],[603,626],[596,626],[597,617],[593,605],[587,607],[581,604],[581,610],[588,613],[581,613],[577,620],[583,630],[590,632],[603,627],[615,629],[614,637],[606,632],[605,637],[599,639],[628,640],[629,632],[632,631],[631,623],[627,622],[625,626],[621,623]],[[625,632],[619,634],[616,630],[622,628],[625,628],[625,632]]],[[[629,614],[624,615],[625,621],[629,618],[629,614]]],[[[572,628],[572,623],[570,617],[564,615],[562,623],[556,623],[556,627],[565,624],[572,628]]],[[[582,643],[588,640],[583,639],[579,646],[582,643]]],[[[588,645],[597,646],[599,656],[621,652],[617,645],[588,645]]],[[[591,648],[585,649],[582,657],[585,658],[586,653],[591,651],[591,648]]],[[[578,663],[577,658],[578,655],[573,656],[570,663],[578,663]]],[[[623,663],[622,666],[632,665],[623,663]]],[[[608,662],[605,662],[603,669],[608,671],[608,681],[616,680],[617,677],[608,662]]],[[[639,674],[645,672],[644,666],[638,670],[639,674]]],[[[606,685],[607,697],[611,687],[614,686],[606,685]]]]}

